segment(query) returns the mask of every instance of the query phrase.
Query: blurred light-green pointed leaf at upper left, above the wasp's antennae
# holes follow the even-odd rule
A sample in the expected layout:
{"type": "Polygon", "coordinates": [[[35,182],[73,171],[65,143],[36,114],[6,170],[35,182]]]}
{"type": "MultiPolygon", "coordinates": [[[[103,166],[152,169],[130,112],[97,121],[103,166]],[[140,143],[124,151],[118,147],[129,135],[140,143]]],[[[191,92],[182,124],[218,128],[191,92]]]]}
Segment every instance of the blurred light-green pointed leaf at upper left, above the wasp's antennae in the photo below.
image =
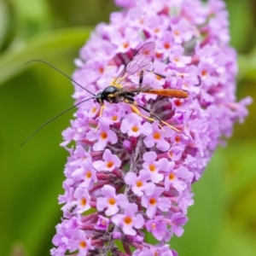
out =
{"type": "Polygon", "coordinates": [[[24,71],[27,61],[55,59],[69,49],[78,49],[89,38],[89,27],[52,31],[33,38],[26,45],[6,51],[0,59],[0,85],[24,71]]]}

